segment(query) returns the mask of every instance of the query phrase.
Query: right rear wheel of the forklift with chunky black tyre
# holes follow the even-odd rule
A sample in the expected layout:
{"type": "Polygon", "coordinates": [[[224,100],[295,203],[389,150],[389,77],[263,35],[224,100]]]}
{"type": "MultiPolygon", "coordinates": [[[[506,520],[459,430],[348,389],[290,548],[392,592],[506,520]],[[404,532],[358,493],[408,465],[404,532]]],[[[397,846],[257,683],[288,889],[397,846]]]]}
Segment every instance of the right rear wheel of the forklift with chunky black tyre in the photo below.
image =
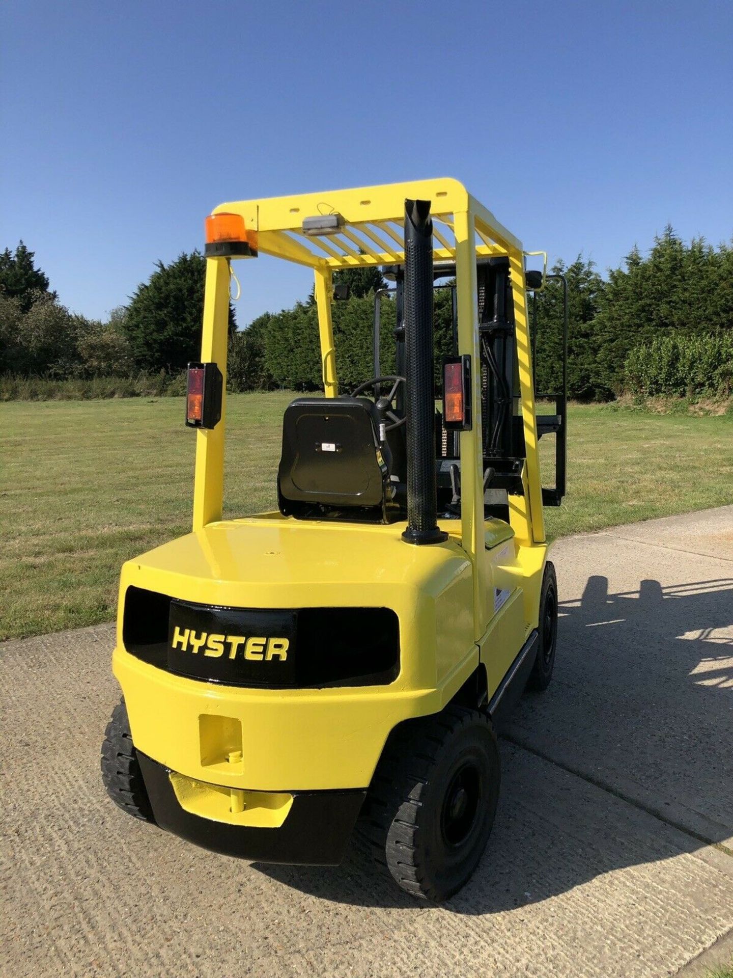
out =
{"type": "Polygon", "coordinates": [[[486,848],[499,778],[487,714],[448,706],[403,724],[379,760],[361,823],[374,859],[413,897],[453,896],[486,848]]]}

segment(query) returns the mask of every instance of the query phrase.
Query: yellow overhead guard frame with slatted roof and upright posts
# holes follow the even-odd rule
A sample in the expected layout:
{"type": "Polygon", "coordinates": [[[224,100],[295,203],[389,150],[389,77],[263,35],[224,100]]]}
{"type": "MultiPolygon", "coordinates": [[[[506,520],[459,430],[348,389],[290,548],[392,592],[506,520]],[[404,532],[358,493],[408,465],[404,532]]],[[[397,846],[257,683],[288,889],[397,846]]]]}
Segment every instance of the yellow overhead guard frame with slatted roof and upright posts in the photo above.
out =
{"type": "MultiPolygon", "coordinates": [[[[332,275],[347,268],[380,266],[405,261],[404,215],[408,197],[431,201],[436,261],[454,261],[457,291],[458,353],[480,362],[476,259],[509,258],[519,366],[521,410],[526,446],[522,471],[524,495],[512,495],[510,524],[523,547],[544,544],[538,425],[533,387],[532,349],[525,290],[524,250],[494,214],[456,180],[362,187],[357,190],[304,194],[265,200],[222,203],[212,213],[240,215],[248,232],[257,235],[263,254],[283,258],[314,270],[316,301],[326,397],[338,393],[336,351],[331,324],[332,275]],[[340,214],[340,233],[309,238],[303,219],[313,214],[340,214]]],[[[194,530],[221,519],[223,505],[224,430],[226,415],[226,362],[229,327],[229,258],[206,259],[206,297],[203,312],[201,359],[219,364],[225,377],[222,420],[212,430],[196,434],[194,530]]],[[[484,633],[487,607],[486,569],[479,554],[484,550],[484,461],[481,429],[481,390],[473,384],[473,427],[460,433],[461,546],[474,564],[474,631],[484,633]]],[[[543,551],[542,551],[543,553],[543,551]]]]}

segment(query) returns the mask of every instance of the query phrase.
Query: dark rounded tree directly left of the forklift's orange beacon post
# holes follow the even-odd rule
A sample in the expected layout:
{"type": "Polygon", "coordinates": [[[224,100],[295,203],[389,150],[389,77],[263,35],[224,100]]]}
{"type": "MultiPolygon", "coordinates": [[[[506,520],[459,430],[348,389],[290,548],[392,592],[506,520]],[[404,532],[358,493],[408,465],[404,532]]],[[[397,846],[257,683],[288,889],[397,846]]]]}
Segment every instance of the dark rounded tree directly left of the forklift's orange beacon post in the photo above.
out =
{"type": "MultiPolygon", "coordinates": [[[[198,359],[205,274],[198,251],[182,252],[169,265],[158,261],[150,280],[138,286],[121,326],[141,370],[175,373],[198,359]]],[[[229,327],[236,328],[231,303],[229,327]]]]}

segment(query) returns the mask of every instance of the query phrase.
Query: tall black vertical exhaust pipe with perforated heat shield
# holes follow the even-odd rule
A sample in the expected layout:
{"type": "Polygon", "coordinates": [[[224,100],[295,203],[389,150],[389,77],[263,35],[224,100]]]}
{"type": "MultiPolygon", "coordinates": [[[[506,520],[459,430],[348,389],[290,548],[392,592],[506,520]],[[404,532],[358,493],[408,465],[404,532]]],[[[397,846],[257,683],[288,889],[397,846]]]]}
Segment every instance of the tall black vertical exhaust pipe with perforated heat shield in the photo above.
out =
{"type": "Polygon", "coordinates": [[[438,528],[433,376],[433,222],[429,200],[405,201],[405,408],[408,544],[448,539],[438,528]]]}

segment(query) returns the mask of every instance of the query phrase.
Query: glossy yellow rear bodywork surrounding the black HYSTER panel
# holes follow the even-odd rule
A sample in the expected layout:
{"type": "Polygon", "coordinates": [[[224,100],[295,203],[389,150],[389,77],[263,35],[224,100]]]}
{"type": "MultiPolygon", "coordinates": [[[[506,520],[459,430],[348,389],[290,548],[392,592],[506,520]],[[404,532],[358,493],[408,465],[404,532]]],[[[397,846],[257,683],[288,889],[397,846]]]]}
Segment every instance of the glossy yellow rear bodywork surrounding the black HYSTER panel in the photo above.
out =
{"type": "MultiPolygon", "coordinates": [[[[459,521],[441,525],[448,544],[409,547],[401,523],[268,513],[210,524],[125,563],[113,670],[135,745],[187,778],[243,790],[366,787],[393,727],[440,711],[479,664],[471,562],[459,521]],[[225,607],[390,607],[400,625],[400,673],[389,686],[332,689],[240,689],[173,675],[125,650],[122,609],[131,585],[225,607]],[[239,751],[240,760],[229,760],[239,751]]],[[[502,582],[534,591],[537,603],[537,575],[525,576],[509,527],[487,523],[486,541],[487,576],[491,555],[505,549],[502,582]]],[[[525,619],[510,643],[484,643],[499,679],[533,627],[525,619]]]]}

